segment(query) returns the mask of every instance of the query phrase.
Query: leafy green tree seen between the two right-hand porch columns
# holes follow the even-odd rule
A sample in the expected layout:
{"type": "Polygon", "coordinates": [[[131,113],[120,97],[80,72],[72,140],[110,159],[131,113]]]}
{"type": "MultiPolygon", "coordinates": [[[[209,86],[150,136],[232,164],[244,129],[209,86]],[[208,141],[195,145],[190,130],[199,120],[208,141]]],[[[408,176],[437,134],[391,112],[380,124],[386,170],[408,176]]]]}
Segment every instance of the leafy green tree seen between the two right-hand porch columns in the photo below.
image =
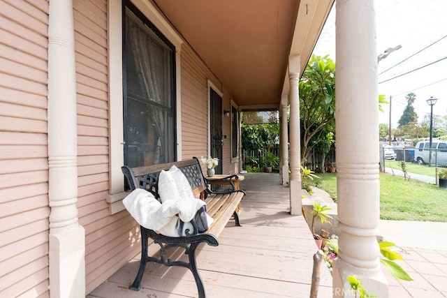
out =
{"type": "Polygon", "coordinates": [[[335,63],[312,55],[300,81],[301,163],[318,140],[335,131],[335,63]],[[328,128],[330,128],[328,131],[328,128]]]}

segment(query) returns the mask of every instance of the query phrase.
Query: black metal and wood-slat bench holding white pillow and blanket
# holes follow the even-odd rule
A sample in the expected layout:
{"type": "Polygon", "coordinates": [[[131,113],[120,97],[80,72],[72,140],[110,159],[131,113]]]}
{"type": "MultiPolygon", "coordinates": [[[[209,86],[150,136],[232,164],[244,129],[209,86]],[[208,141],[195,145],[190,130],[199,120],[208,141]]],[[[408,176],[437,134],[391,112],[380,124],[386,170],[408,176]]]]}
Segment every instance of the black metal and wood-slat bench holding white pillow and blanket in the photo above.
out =
{"type": "Polygon", "coordinates": [[[187,237],[166,237],[162,234],[158,234],[154,230],[149,230],[140,226],[141,233],[141,260],[138,274],[135,277],[135,281],[129,287],[131,290],[140,290],[142,276],[145,272],[147,262],[156,262],[165,266],[181,266],[191,270],[194,279],[196,281],[198,297],[205,297],[205,289],[203,287],[203,281],[198,273],[196,264],[196,248],[200,243],[206,242],[210,246],[218,246],[219,234],[225,228],[226,223],[232,216],[235,218],[235,225],[240,226],[239,216],[235,211],[240,201],[245,195],[245,191],[235,188],[233,181],[238,179],[237,175],[230,175],[222,179],[213,179],[213,184],[218,184],[221,181],[222,185],[226,185],[221,191],[211,191],[208,188],[210,181],[203,175],[202,169],[198,158],[194,157],[188,161],[177,161],[173,163],[163,163],[159,165],[150,165],[145,167],[128,167],[123,166],[122,172],[126,177],[126,181],[129,184],[131,191],[136,188],[143,188],[150,191],[155,198],[159,199],[158,180],[159,174],[162,170],[169,170],[171,166],[175,165],[181,170],[186,179],[188,179],[194,195],[205,200],[207,203],[207,214],[213,219],[214,223],[210,228],[203,233],[197,231],[195,223],[193,223],[193,232],[187,237]],[[147,255],[149,238],[154,240],[154,243],[160,246],[160,257],[154,258],[147,255]],[[189,257],[189,262],[184,261],[172,261],[166,258],[168,248],[182,247],[185,254],[189,257]]]}

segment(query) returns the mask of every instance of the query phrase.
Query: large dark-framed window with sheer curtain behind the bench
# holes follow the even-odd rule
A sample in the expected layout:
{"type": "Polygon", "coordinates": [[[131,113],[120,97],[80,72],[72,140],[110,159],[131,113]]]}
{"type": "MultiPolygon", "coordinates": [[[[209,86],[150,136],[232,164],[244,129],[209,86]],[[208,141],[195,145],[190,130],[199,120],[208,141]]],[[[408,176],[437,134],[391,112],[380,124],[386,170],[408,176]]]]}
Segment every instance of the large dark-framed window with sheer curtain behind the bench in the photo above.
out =
{"type": "Polygon", "coordinates": [[[175,161],[175,47],[131,3],[123,24],[124,164],[175,161]]]}

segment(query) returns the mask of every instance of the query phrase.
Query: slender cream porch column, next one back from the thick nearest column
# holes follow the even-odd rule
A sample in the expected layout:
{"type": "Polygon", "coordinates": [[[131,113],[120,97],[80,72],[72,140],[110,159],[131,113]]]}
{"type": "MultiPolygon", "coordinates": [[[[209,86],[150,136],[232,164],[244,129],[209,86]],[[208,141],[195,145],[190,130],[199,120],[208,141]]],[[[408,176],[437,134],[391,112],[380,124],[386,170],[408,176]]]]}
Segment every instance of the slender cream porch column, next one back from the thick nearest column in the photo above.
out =
{"type": "Polygon", "coordinates": [[[298,83],[300,82],[300,55],[293,55],[288,58],[288,78],[291,86],[291,214],[301,215],[300,98],[298,91],[298,83]]]}

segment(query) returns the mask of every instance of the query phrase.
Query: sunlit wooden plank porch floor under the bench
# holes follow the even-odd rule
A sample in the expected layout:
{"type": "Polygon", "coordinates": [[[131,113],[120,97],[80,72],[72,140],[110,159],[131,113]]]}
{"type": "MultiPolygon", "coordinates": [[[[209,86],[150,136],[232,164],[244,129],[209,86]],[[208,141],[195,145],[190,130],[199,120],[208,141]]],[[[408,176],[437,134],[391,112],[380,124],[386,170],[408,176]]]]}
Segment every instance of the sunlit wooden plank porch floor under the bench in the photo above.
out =
{"type": "MultiPolygon", "coordinates": [[[[249,173],[241,188],[240,221],[230,221],[219,237],[219,246],[198,250],[198,269],[207,297],[309,297],[313,255],[317,248],[302,216],[288,213],[289,188],[279,174],[249,173]]],[[[156,253],[156,246],[152,246],[156,253]]],[[[176,258],[184,258],[176,252],[176,258]]],[[[136,256],[87,297],[197,297],[196,283],[188,269],[148,263],[139,292],[128,290],[138,271],[136,256]]],[[[324,264],[318,297],[332,297],[332,277],[324,264]]]]}

